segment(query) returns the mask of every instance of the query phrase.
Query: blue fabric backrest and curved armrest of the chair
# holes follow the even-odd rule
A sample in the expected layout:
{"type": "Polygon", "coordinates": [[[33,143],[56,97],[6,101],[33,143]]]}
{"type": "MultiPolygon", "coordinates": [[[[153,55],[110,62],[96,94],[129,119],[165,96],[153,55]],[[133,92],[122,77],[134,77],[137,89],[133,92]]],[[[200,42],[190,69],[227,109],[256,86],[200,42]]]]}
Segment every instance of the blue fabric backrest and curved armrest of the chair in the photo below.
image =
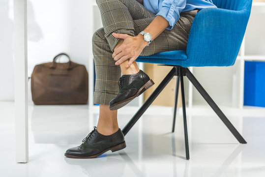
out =
{"type": "Polygon", "coordinates": [[[195,16],[186,49],[186,66],[230,66],[236,61],[252,0],[212,0],[195,16]]]}

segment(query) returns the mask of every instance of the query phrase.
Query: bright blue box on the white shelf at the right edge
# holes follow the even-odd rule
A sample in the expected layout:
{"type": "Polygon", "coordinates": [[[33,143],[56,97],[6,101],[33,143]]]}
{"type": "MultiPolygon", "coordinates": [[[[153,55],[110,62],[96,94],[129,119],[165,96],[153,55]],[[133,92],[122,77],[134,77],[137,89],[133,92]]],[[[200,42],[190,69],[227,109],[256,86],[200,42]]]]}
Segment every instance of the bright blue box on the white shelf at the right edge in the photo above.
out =
{"type": "Polygon", "coordinates": [[[265,62],[245,61],[244,105],[265,107],[265,62]]]}

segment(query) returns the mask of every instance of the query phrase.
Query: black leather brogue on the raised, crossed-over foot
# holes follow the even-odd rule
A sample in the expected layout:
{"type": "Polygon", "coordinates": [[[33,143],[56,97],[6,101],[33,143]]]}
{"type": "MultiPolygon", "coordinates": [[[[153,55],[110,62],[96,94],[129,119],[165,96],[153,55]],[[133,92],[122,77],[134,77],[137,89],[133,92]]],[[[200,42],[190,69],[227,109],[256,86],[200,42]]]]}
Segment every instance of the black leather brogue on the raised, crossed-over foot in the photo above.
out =
{"type": "Polygon", "coordinates": [[[125,106],[152,85],[154,82],[142,70],[136,74],[122,75],[118,81],[118,96],[111,100],[110,110],[118,110],[125,106]]]}

